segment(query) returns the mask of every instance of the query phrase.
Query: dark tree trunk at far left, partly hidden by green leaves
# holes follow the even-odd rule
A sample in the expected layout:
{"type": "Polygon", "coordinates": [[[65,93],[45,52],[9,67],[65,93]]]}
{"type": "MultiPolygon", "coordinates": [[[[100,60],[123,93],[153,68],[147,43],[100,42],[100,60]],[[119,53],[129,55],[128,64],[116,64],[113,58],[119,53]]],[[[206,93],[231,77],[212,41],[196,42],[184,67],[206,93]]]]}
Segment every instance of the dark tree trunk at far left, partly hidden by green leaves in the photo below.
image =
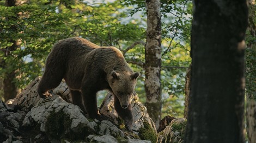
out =
{"type": "MultiPolygon", "coordinates": [[[[15,0],[5,0],[5,6],[16,6],[16,1],[15,0]]],[[[6,17],[6,20],[8,21],[9,17],[6,17]]],[[[11,17],[11,18],[15,18],[17,19],[17,17],[11,17]]],[[[17,28],[15,25],[11,26],[11,29],[13,29],[13,31],[17,31],[17,28]]],[[[11,43],[13,43],[13,45],[11,45],[10,47],[6,47],[3,49],[4,52],[4,56],[10,56],[10,51],[16,50],[19,45],[20,42],[17,40],[11,40],[11,43]]],[[[2,60],[1,63],[1,67],[8,67],[8,64],[5,63],[4,60],[2,60]]],[[[3,91],[4,91],[4,100],[7,101],[9,99],[13,99],[16,97],[17,95],[17,87],[14,83],[14,79],[15,79],[15,70],[13,71],[7,71],[4,75],[4,79],[3,79],[3,91]]]]}

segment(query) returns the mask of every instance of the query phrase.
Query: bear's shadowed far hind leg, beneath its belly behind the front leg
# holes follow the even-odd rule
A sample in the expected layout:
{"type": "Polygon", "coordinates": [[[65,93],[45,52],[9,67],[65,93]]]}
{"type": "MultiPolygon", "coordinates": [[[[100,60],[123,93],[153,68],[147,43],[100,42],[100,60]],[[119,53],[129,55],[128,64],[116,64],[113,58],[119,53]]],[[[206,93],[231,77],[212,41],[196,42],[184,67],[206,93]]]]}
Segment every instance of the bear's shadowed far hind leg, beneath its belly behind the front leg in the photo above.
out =
{"type": "Polygon", "coordinates": [[[87,113],[86,108],[83,105],[81,92],[78,90],[70,90],[70,93],[73,104],[79,106],[84,113],[87,113]]]}

